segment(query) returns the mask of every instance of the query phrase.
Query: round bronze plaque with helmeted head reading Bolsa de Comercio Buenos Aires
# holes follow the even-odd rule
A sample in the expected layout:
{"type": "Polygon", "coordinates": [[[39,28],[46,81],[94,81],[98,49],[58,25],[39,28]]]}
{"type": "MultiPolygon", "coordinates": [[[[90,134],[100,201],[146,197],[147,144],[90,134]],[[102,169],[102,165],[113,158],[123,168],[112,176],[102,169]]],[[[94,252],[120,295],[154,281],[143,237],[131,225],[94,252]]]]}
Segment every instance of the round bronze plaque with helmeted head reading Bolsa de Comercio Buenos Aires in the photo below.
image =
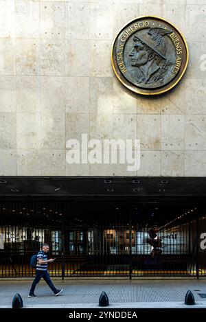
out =
{"type": "Polygon", "coordinates": [[[169,91],[183,77],[189,54],[179,30],[156,16],[139,17],[117,34],[112,48],[117,78],[144,95],[169,91]]]}

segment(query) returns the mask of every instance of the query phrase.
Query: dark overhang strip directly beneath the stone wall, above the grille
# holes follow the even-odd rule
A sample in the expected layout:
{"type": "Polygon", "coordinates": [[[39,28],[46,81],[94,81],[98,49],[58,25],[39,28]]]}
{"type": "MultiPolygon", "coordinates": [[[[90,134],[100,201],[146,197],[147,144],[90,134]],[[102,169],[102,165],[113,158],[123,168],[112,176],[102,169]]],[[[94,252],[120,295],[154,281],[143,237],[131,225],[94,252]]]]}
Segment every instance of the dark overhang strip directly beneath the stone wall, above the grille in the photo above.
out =
{"type": "Polygon", "coordinates": [[[3,176],[3,196],[206,196],[204,177],[3,176]]]}

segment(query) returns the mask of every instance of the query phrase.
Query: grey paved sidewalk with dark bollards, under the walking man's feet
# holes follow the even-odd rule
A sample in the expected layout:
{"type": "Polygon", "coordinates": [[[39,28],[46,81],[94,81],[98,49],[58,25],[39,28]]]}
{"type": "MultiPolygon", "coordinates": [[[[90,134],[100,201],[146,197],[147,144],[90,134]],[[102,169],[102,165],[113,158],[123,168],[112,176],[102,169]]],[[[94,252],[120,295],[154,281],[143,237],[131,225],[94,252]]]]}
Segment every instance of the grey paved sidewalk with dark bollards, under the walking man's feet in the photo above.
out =
{"type": "Polygon", "coordinates": [[[18,292],[25,308],[100,308],[102,291],[108,295],[107,308],[206,308],[206,280],[67,280],[56,281],[57,288],[64,288],[54,297],[45,281],[36,286],[36,299],[27,297],[32,281],[0,281],[0,308],[11,308],[12,298],[18,292]],[[191,290],[195,306],[185,306],[185,294],[191,290]]]}

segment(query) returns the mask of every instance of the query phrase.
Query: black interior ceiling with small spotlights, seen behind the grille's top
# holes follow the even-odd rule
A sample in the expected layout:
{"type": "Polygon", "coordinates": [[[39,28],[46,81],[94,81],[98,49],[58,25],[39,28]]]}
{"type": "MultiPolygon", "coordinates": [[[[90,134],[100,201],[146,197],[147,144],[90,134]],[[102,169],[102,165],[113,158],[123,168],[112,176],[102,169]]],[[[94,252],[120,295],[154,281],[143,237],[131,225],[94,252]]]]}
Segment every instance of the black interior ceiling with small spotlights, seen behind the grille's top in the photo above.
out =
{"type": "Polygon", "coordinates": [[[131,218],[133,225],[148,227],[165,225],[170,220],[177,219],[174,225],[188,222],[198,215],[198,202],[192,200],[174,200],[163,198],[153,201],[138,200],[102,200],[87,198],[87,200],[66,201],[0,201],[0,217],[3,225],[27,224],[27,227],[47,225],[128,225],[131,218]],[[131,216],[130,216],[131,215],[131,216]]]}

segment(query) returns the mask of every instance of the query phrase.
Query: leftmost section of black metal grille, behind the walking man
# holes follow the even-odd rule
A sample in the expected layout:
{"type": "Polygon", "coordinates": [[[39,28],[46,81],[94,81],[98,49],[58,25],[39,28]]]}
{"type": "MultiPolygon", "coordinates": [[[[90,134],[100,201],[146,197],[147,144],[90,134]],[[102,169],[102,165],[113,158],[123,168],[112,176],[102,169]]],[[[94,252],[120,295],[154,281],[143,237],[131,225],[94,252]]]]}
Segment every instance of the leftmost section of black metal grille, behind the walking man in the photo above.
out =
{"type": "MultiPolygon", "coordinates": [[[[0,277],[30,277],[30,257],[50,245],[52,256],[61,254],[60,203],[0,203],[0,277]],[[58,242],[56,236],[58,235],[58,242]]],[[[51,266],[61,276],[61,264],[51,266]]]]}

